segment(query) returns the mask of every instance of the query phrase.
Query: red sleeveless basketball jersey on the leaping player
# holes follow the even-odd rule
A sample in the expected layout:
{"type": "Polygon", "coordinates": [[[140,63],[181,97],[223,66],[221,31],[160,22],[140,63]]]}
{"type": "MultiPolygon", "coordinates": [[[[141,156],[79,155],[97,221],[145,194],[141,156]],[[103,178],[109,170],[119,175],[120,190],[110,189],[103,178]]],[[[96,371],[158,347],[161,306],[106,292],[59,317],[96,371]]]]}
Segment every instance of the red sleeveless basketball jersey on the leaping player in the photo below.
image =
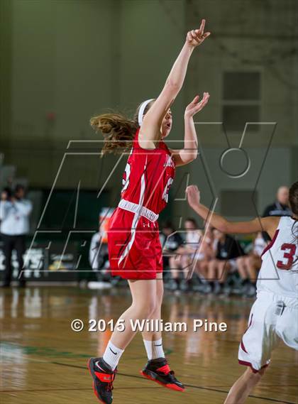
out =
{"type": "Polygon", "coordinates": [[[141,148],[138,133],[123,174],[121,198],[159,214],[165,208],[175,177],[175,162],[165,142],[153,150],[141,148]]]}

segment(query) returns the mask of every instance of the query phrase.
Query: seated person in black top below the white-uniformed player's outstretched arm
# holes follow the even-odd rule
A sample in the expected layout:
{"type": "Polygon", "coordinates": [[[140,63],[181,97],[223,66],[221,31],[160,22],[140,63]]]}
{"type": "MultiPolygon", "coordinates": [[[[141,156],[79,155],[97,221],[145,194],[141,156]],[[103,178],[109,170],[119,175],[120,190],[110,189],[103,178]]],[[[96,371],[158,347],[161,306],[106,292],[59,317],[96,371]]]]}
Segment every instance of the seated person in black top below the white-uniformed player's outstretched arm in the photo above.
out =
{"type": "Polygon", "coordinates": [[[228,234],[214,229],[214,239],[217,241],[215,259],[209,262],[208,278],[216,295],[223,292],[223,285],[229,272],[237,271],[236,258],[244,256],[241,244],[228,234]]]}

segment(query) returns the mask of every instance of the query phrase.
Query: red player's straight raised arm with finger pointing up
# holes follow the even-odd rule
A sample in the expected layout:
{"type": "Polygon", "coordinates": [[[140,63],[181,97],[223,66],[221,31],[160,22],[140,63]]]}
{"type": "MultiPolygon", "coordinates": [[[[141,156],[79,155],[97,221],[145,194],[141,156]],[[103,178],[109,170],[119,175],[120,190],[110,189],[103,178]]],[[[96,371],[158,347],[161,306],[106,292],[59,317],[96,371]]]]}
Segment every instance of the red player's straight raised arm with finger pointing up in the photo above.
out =
{"type": "Polygon", "coordinates": [[[182,88],[190,56],[194,48],[210,35],[209,32],[204,33],[204,26],[205,20],[202,20],[199,29],[187,33],[187,39],[167,77],[162,92],[145,114],[139,134],[140,144],[143,148],[155,148],[154,141],[160,138],[162,119],[182,88]]]}

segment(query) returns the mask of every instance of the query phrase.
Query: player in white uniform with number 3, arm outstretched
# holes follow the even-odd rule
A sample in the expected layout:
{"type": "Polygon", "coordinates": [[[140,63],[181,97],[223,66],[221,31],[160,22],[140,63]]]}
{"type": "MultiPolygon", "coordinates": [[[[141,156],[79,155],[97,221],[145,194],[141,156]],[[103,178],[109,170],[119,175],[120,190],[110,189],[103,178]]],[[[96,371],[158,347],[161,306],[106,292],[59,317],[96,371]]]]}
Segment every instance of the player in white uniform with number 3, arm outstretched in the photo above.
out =
{"type": "Polygon", "coordinates": [[[189,205],[207,226],[225,234],[266,231],[272,239],[262,253],[257,299],[238,349],[239,364],[248,368],[224,402],[243,404],[263,377],[272,351],[280,342],[298,351],[298,181],[289,188],[292,217],[255,217],[248,222],[229,222],[209,210],[201,203],[196,185],[187,187],[186,192],[189,205]]]}

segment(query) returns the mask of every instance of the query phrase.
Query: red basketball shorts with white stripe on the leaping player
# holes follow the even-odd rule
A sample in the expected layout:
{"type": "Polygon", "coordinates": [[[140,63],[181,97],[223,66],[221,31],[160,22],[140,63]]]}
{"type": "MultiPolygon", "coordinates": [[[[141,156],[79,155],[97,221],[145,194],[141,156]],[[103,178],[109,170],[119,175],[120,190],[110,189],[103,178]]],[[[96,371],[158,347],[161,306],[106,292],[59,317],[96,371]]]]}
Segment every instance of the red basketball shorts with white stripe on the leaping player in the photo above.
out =
{"type": "Polygon", "coordinates": [[[111,273],[124,279],[155,279],[162,272],[158,222],[117,207],[108,231],[111,273]]]}

